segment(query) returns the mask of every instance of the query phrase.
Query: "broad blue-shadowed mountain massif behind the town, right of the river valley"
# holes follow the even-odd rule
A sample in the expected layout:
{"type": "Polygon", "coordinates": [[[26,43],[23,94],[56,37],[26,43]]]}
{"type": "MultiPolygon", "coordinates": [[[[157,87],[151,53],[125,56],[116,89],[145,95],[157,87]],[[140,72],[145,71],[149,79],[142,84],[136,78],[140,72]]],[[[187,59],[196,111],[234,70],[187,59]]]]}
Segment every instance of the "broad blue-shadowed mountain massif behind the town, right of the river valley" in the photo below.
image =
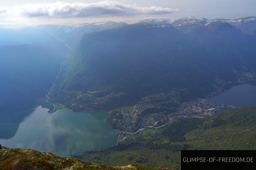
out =
{"type": "Polygon", "coordinates": [[[64,63],[52,101],[93,111],[172,88],[188,88],[190,98],[205,96],[215,79],[234,81],[255,70],[254,41],[219,23],[197,25],[191,34],[151,23],[84,34],[64,63]]]}

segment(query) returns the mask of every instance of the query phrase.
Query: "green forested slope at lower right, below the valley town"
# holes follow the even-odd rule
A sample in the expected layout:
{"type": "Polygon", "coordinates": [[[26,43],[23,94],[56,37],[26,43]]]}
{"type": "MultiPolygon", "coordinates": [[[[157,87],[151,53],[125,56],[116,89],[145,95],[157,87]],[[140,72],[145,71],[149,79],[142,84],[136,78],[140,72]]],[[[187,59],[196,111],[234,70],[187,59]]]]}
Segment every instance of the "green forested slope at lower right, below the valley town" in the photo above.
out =
{"type": "Polygon", "coordinates": [[[180,168],[180,150],[255,150],[256,106],[235,108],[205,119],[177,121],[167,128],[144,130],[121,144],[95,149],[78,158],[108,165],[138,163],[180,168]]]}

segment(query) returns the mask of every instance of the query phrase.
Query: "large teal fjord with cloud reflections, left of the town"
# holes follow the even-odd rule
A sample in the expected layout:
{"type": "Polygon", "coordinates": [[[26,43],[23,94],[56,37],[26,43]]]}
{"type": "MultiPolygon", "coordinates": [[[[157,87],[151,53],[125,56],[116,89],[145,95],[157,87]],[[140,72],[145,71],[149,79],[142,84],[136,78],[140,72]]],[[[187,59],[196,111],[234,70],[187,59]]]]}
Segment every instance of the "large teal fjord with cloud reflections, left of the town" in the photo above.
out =
{"type": "Polygon", "coordinates": [[[116,135],[120,131],[105,122],[106,112],[70,112],[62,109],[48,114],[47,111],[39,106],[21,123],[12,119],[0,121],[1,145],[68,156],[94,148],[111,147],[116,143],[116,135]],[[10,136],[11,132],[13,136],[10,136]]]}

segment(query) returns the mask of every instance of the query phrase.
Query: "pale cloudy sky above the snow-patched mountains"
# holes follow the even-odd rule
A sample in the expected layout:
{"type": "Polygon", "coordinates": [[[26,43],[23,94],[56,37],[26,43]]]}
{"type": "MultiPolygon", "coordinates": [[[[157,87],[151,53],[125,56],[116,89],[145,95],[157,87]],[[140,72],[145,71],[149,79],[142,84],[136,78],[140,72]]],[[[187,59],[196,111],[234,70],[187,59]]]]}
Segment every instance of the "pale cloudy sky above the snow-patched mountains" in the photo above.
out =
{"type": "Polygon", "coordinates": [[[234,19],[256,16],[255,8],[255,0],[0,0],[0,27],[161,17],[234,19]]]}

